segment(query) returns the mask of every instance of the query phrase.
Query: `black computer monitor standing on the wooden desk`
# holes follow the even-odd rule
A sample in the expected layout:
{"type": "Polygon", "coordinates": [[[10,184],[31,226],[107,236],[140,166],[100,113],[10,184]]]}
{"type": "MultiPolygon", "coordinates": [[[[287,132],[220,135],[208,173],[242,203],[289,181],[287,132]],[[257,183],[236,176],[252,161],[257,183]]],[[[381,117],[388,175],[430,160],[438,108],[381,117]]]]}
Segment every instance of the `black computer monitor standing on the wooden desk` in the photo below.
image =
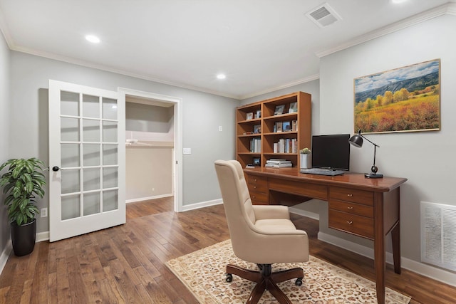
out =
{"type": "Polygon", "coordinates": [[[350,169],[349,134],[312,136],[312,167],[334,170],[350,169]]]}

